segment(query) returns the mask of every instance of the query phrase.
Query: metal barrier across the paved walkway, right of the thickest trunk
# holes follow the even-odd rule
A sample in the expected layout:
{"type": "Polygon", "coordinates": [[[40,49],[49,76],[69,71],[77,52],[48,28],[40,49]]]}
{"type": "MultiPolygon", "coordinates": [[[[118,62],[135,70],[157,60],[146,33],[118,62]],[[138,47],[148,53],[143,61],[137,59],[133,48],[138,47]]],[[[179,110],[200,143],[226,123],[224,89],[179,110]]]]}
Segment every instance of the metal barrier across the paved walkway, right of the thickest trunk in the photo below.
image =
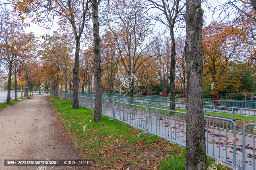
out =
{"type": "MultiPolygon", "coordinates": [[[[220,118],[227,118],[236,122],[236,131],[242,133],[242,127],[247,123],[255,123],[256,109],[238,108],[238,107],[224,107],[224,106],[211,106],[205,105],[203,107],[204,114],[208,116],[215,116],[220,118]]],[[[226,129],[225,124],[220,124],[223,129],[226,129]]],[[[232,126],[228,128],[228,131],[233,131],[232,126]]],[[[250,131],[250,130],[249,130],[250,131]]],[[[252,135],[252,133],[246,133],[252,135]]]]}

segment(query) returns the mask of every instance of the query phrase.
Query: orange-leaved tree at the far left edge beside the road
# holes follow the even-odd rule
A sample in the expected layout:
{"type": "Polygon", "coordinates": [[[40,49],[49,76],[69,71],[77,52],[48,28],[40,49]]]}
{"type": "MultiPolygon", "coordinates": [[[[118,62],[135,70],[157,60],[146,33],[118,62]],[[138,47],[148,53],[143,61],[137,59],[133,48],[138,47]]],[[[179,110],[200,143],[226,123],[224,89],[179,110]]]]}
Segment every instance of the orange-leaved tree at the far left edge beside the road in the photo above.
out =
{"type": "MultiPolygon", "coordinates": [[[[7,103],[11,101],[12,68],[24,61],[35,58],[32,51],[36,51],[38,40],[33,33],[24,33],[18,21],[13,21],[13,13],[7,10],[1,20],[0,58],[1,63],[8,69],[7,103]],[[13,24],[12,22],[16,22],[13,24]]],[[[15,77],[17,69],[14,71],[15,77]]],[[[16,82],[16,80],[15,80],[16,82]]]]}

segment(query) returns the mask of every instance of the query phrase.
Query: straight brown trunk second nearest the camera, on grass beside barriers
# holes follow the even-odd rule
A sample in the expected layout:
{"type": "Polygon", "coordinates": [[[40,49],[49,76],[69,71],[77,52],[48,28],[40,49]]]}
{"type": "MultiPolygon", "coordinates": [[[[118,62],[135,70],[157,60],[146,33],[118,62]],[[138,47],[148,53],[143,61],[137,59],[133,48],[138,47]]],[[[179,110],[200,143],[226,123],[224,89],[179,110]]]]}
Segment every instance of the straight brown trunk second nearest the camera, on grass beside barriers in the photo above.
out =
{"type": "MultiPolygon", "coordinates": [[[[100,1],[99,1],[100,2],[100,1]]],[[[100,69],[100,31],[99,31],[98,2],[92,0],[92,24],[93,24],[93,53],[94,53],[94,85],[95,105],[94,122],[101,122],[102,114],[102,83],[100,69]]]]}

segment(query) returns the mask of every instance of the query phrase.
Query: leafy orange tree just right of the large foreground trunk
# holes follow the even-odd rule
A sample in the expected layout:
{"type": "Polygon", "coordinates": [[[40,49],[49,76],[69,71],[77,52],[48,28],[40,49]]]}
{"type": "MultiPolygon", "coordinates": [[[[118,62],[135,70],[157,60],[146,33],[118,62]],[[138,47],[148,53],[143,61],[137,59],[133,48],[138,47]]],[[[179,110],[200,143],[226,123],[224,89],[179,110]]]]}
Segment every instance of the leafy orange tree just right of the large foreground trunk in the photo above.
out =
{"type": "Polygon", "coordinates": [[[203,29],[204,75],[210,74],[215,84],[213,94],[224,90],[225,74],[231,60],[245,57],[247,35],[232,22],[212,22],[203,29]]]}

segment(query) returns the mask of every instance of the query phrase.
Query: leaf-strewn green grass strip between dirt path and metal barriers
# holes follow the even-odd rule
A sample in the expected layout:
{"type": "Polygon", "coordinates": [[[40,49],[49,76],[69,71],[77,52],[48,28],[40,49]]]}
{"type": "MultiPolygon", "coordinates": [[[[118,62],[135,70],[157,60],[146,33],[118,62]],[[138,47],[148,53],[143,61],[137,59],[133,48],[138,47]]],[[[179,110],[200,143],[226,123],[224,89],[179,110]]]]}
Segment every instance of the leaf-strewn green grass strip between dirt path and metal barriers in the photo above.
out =
{"type": "MultiPolygon", "coordinates": [[[[141,153],[141,148],[144,148],[148,152],[152,149],[157,152],[159,151],[157,146],[160,145],[166,151],[162,152],[167,153],[168,156],[159,159],[159,162],[152,162],[151,165],[147,165],[147,162],[144,161],[143,166],[145,166],[145,169],[152,169],[150,168],[152,166],[157,166],[161,170],[185,169],[186,148],[170,144],[157,136],[142,139],[141,137],[147,135],[144,134],[138,138],[137,135],[142,132],[141,130],[129,125],[125,126],[117,120],[108,121],[110,118],[104,115],[102,115],[102,122],[94,123],[92,110],[82,110],[83,107],[81,106],[79,106],[79,109],[72,109],[72,102],[69,100],[67,100],[67,103],[64,103],[64,100],[60,101],[59,98],[53,98],[50,101],[58,116],[62,119],[66,130],[73,138],[75,146],[77,146],[81,155],[86,159],[95,159],[97,162],[96,165],[102,163],[101,165],[116,169],[114,165],[120,165],[122,160],[131,163],[131,165],[143,163],[139,158],[131,158],[130,156],[122,157],[119,153],[127,152],[130,155],[133,153],[137,154],[141,153]],[[92,121],[90,122],[90,120],[92,121]],[[85,131],[82,129],[85,129],[85,131]],[[118,148],[118,145],[121,145],[121,147],[118,148]],[[109,152],[115,150],[115,147],[119,149],[119,152],[109,152]],[[116,154],[119,154],[119,156],[116,154]]],[[[209,166],[214,160],[207,158],[207,162],[209,166]]],[[[219,167],[219,169],[221,168],[219,167]]],[[[223,168],[223,170],[226,169],[223,168]]]]}

